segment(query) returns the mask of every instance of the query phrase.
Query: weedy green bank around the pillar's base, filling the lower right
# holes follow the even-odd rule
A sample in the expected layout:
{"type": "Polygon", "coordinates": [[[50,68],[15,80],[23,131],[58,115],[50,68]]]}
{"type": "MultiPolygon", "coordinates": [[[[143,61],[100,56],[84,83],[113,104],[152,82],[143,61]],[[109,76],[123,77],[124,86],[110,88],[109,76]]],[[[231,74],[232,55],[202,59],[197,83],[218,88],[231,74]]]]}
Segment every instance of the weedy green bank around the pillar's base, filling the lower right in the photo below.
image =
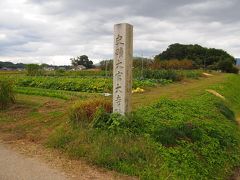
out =
{"type": "Polygon", "coordinates": [[[207,92],[185,100],[161,99],[127,118],[101,116],[95,128],[61,126],[47,144],[142,179],[224,179],[240,165],[233,111],[240,109],[239,83],[239,76],[228,76],[214,86],[227,101],[207,92]]]}

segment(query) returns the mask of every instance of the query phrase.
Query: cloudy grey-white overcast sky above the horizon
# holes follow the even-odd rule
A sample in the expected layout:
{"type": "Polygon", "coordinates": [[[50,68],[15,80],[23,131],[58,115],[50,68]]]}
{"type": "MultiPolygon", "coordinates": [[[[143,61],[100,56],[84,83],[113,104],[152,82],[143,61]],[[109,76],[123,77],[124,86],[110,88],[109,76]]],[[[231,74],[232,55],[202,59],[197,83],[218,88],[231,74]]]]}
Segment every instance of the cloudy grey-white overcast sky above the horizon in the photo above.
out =
{"type": "Polygon", "coordinates": [[[0,0],[0,60],[70,64],[112,58],[113,25],[134,26],[134,55],[172,43],[240,57],[240,0],[0,0]]]}

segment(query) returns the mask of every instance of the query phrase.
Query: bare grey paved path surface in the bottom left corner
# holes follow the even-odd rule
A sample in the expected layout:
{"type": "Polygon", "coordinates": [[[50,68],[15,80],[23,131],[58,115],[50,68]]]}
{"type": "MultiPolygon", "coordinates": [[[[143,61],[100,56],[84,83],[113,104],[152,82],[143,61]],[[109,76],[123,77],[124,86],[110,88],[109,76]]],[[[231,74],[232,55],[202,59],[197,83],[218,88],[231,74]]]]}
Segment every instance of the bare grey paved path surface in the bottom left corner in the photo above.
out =
{"type": "Polygon", "coordinates": [[[64,173],[49,167],[38,159],[16,153],[0,143],[0,179],[1,180],[65,180],[64,173]]]}

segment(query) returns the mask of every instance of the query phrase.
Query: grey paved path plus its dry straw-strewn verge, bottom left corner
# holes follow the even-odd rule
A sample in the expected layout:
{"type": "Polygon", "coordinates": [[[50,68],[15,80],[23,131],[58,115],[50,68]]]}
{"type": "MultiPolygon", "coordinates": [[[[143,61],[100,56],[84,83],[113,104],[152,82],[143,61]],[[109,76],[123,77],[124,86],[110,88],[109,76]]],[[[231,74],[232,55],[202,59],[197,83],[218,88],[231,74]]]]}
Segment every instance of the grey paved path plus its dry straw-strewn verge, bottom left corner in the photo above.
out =
{"type": "Polygon", "coordinates": [[[71,160],[59,151],[0,134],[0,180],[122,180],[136,179],[71,160]]]}

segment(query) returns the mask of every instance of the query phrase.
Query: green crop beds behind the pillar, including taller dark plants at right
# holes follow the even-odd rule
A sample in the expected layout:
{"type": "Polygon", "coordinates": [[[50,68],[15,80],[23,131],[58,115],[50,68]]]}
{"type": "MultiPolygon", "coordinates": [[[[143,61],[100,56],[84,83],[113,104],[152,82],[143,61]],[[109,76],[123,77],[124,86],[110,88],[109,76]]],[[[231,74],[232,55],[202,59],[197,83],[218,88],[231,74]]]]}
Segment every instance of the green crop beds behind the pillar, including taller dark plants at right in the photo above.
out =
{"type": "MultiPolygon", "coordinates": [[[[84,72],[84,71],[83,71],[84,72]]],[[[80,73],[79,73],[80,74],[80,73]]],[[[84,74],[84,73],[83,73],[84,74]]],[[[86,73],[89,74],[89,73],[86,73]]],[[[93,73],[94,74],[94,73],[93,73]]],[[[142,80],[135,79],[133,88],[149,88],[158,84],[169,84],[185,78],[196,79],[202,71],[174,71],[174,70],[145,70],[142,80]]],[[[139,75],[140,76],[140,75],[139,75]]],[[[61,77],[61,76],[35,76],[35,77],[9,77],[15,80],[18,87],[34,87],[52,90],[78,91],[103,93],[112,91],[112,79],[104,77],[61,77]]]]}

